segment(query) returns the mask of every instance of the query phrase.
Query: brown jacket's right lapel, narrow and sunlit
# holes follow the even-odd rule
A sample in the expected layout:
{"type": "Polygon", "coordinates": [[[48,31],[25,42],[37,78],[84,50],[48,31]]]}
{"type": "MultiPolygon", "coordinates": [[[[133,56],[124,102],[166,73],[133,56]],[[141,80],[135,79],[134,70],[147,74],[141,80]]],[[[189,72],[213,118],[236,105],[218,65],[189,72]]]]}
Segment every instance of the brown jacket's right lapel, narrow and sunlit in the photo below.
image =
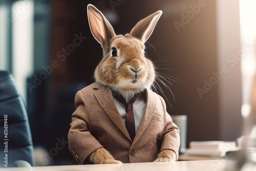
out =
{"type": "Polygon", "coordinates": [[[146,89],[146,110],[140,122],[140,126],[135,135],[133,143],[136,143],[136,141],[140,138],[142,133],[145,131],[146,127],[148,126],[148,124],[150,123],[154,115],[155,109],[156,109],[156,98],[154,97],[152,90],[146,89]]]}

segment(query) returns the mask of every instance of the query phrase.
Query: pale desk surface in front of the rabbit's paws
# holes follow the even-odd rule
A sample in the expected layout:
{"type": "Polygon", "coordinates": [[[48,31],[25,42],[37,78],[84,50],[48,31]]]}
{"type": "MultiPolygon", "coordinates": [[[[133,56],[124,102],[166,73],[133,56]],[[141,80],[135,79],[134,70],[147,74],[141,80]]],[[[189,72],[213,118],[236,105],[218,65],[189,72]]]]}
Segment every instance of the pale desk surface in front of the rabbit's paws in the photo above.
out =
{"type": "Polygon", "coordinates": [[[43,167],[14,167],[1,168],[1,171],[220,171],[224,170],[227,162],[225,160],[203,160],[203,161],[177,161],[158,163],[124,163],[124,164],[95,164],[95,165],[67,165],[67,166],[43,166],[43,167]]]}

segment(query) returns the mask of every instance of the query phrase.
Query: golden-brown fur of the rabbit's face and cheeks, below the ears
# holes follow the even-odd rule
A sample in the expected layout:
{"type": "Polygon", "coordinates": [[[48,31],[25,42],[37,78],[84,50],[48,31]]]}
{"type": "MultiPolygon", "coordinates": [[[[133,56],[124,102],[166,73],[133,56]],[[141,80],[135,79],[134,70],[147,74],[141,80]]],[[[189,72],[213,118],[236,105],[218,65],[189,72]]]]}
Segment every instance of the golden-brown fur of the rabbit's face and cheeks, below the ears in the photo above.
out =
{"type": "Polygon", "coordinates": [[[155,70],[153,63],[144,57],[142,42],[132,36],[119,36],[113,40],[111,45],[119,49],[119,59],[111,57],[111,51],[107,53],[95,70],[96,80],[104,85],[115,87],[119,92],[133,91],[136,93],[145,87],[150,87],[155,80],[155,70]],[[123,80],[134,79],[134,74],[129,71],[129,67],[134,70],[142,67],[137,77],[144,79],[141,86],[120,87],[123,80]]]}

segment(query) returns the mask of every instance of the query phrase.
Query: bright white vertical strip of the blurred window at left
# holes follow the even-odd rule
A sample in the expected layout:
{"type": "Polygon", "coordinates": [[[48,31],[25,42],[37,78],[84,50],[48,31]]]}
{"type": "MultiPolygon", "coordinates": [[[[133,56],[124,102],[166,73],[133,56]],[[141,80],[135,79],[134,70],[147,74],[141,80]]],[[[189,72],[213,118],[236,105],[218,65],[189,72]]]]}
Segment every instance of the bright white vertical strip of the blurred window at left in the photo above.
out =
{"type": "Polygon", "coordinates": [[[17,88],[27,101],[27,78],[33,72],[33,1],[16,1],[12,5],[13,75],[17,88]]]}

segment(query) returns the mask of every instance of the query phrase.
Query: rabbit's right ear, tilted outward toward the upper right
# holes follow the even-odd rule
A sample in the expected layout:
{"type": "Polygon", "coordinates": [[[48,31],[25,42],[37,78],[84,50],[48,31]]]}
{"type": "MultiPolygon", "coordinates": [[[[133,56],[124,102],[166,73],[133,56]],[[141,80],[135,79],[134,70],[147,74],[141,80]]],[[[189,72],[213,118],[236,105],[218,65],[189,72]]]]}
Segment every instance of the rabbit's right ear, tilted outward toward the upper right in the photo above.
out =
{"type": "Polygon", "coordinates": [[[147,16],[146,18],[140,20],[132,29],[130,35],[137,37],[140,39],[143,44],[144,42],[150,37],[153,30],[156,27],[156,24],[158,22],[158,19],[162,15],[162,11],[159,10],[150,16],[147,16]]]}

